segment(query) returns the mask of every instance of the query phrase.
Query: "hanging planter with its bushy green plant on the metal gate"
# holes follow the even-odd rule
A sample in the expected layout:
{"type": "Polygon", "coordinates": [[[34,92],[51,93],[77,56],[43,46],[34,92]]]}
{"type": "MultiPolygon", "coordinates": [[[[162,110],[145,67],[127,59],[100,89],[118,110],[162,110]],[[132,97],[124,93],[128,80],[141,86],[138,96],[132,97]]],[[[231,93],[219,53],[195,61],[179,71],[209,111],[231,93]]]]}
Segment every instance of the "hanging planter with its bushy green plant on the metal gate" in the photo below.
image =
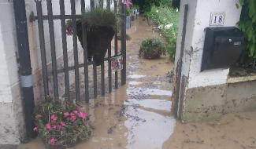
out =
{"type": "MultiPolygon", "coordinates": [[[[76,20],[77,37],[83,47],[83,31],[87,31],[88,60],[93,57],[97,66],[104,61],[106,51],[117,30],[117,16],[107,9],[87,10],[76,20]]],[[[72,21],[67,21],[67,35],[72,35],[72,21]]]]}

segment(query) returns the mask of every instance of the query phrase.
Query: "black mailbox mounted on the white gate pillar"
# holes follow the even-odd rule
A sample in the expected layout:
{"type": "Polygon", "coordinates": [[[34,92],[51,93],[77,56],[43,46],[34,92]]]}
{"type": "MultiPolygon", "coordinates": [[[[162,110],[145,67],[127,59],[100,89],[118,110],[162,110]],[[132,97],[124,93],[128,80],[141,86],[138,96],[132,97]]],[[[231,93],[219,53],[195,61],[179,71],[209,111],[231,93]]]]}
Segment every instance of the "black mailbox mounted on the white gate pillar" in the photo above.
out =
{"type": "Polygon", "coordinates": [[[201,71],[232,67],[244,48],[244,36],[236,27],[207,27],[201,71]]]}

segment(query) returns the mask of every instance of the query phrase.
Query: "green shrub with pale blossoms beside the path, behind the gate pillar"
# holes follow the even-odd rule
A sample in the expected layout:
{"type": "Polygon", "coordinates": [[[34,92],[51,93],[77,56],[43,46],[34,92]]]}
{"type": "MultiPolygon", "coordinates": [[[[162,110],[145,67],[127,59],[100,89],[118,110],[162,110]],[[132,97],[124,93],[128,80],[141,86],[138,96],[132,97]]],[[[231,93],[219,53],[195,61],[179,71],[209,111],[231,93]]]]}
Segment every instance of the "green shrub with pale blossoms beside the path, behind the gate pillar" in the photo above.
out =
{"type": "Polygon", "coordinates": [[[173,60],[176,51],[176,40],[179,23],[179,13],[177,10],[166,5],[153,6],[150,12],[145,14],[154,24],[161,29],[161,35],[165,38],[165,49],[169,54],[169,59],[173,60]]]}

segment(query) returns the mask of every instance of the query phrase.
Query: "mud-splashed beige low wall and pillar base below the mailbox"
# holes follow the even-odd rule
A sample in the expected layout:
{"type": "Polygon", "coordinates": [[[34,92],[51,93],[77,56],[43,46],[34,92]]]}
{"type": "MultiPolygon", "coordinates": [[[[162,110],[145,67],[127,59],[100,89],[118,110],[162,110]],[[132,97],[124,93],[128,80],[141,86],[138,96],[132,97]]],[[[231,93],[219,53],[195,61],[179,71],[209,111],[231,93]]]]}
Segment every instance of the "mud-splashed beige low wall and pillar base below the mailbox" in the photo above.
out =
{"type": "Polygon", "coordinates": [[[207,122],[227,113],[256,111],[255,76],[231,77],[227,84],[187,89],[182,120],[207,122]]]}

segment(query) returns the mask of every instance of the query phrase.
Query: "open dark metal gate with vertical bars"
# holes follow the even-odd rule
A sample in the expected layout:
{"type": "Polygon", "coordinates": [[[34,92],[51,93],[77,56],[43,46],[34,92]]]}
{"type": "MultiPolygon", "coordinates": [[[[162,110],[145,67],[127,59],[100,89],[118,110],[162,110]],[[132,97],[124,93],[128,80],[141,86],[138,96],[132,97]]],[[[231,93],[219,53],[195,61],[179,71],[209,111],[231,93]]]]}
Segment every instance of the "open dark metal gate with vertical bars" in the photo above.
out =
{"type": "MultiPolygon", "coordinates": [[[[93,91],[94,91],[94,97],[98,96],[98,88],[97,88],[97,66],[95,64],[95,61],[88,61],[87,60],[87,33],[86,30],[83,27],[83,63],[79,63],[78,57],[78,41],[77,41],[77,31],[76,31],[76,19],[81,19],[82,15],[76,14],[76,2],[75,0],[70,0],[70,9],[71,14],[67,15],[65,14],[65,0],[59,0],[59,8],[60,8],[60,14],[54,15],[53,14],[53,3],[51,0],[46,0],[47,5],[47,15],[43,15],[43,7],[42,7],[42,1],[41,0],[35,0],[36,3],[36,9],[37,9],[37,16],[34,16],[34,13],[32,12],[31,20],[38,21],[38,27],[39,27],[39,41],[40,41],[40,53],[41,53],[41,60],[42,60],[42,70],[43,70],[43,90],[44,90],[44,96],[50,95],[50,89],[49,89],[49,77],[50,75],[53,75],[53,84],[54,84],[54,98],[58,98],[59,95],[59,89],[58,89],[58,74],[64,73],[65,75],[65,97],[70,99],[70,82],[69,82],[69,71],[75,71],[75,86],[76,86],[76,100],[80,100],[80,70],[79,68],[84,68],[84,93],[85,93],[85,101],[89,101],[89,73],[88,73],[88,66],[93,65],[93,91]],[[69,66],[69,58],[68,58],[68,49],[67,49],[67,36],[66,36],[66,20],[71,19],[72,20],[72,42],[73,42],[73,55],[74,55],[74,65],[69,66]],[[52,61],[52,71],[47,70],[47,63],[46,63],[46,45],[45,45],[45,35],[44,35],[44,20],[48,20],[49,24],[49,34],[50,34],[50,54],[51,54],[51,61],[52,61]],[[62,38],[62,49],[63,49],[63,61],[64,66],[63,69],[58,69],[57,67],[57,57],[56,57],[56,47],[55,47],[55,37],[54,37],[54,20],[61,20],[61,38],[62,38]]],[[[107,9],[110,9],[110,0],[106,0],[107,9]]],[[[117,1],[113,1],[114,4],[114,11],[115,13],[119,12],[117,11],[117,1]]],[[[81,13],[85,12],[85,2],[84,0],[80,0],[81,5],[81,13]]],[[[91,9],[94,8],[95,2],[94,0],[90,0],[90,6],[91,9]]],[[[107,61],[108,63],[108,88],[109,93],[112,92],[113,89],[113,81],[112,81],[112,68],[111,68],[111,60],[117,56],[122,56],[123,58],[123,69],[121,70],[121,85],[124,85],[126,83],[126,16],[124,15],[124,12],[126,13],[126,5],[121,6],[121,14],[118,14],[121,18],[121,50],[119,51],[117,49],[118,42],[117,42],[117,31],[114,36],[114,56],[111,55],[111,43],[108,48],[107,57],[105,57],[104,61],[107,61]]],[[[66,8],[67,9],[67,8],[66,8]]],[[[56,24],[55,24],[56,25],[56,24]]],[[[114,88],[118,88],[118,71],[114,72],[114,88]]],[[[101,90],[102,90],[102,96],[105,95],[105,65],[104,63],[101,65],[101,90]]]]}

